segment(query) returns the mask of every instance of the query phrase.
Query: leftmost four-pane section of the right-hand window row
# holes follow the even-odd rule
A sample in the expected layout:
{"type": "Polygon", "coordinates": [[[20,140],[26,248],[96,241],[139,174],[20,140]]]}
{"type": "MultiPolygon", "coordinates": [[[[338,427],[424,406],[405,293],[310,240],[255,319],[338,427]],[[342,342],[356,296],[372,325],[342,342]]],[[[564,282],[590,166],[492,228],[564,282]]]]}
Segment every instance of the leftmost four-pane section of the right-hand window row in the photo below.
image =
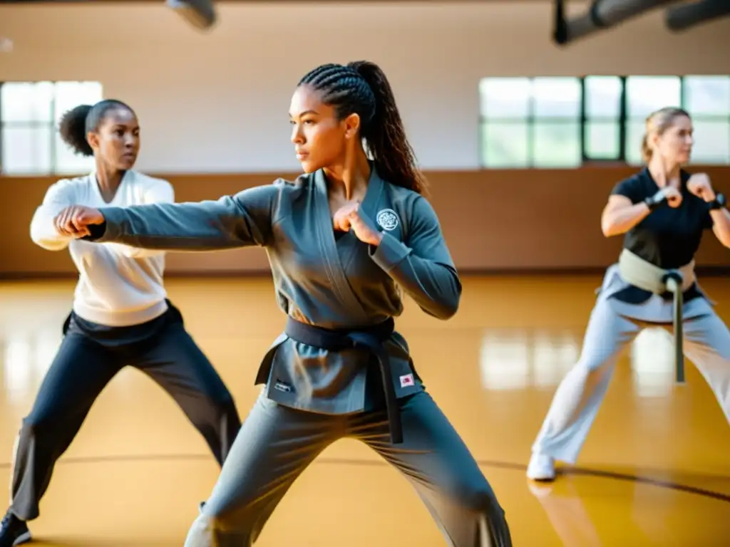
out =
{"type": "Polygon", "coordinates": [[[580,165],[580,79],[485,78],[480,96],[485,166],[580,165]]]}

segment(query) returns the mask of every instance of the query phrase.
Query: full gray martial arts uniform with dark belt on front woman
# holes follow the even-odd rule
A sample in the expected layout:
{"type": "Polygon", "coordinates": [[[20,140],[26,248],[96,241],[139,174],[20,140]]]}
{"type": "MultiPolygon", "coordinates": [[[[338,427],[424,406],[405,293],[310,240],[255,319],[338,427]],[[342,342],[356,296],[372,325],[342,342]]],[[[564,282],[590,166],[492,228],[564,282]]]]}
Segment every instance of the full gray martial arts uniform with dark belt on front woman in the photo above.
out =
{"type": "Polygon", "coordinates": [[[106,222],[93,241],[178,251],[266,247],[288,315],[258,372],[266,387],[186,546],[253,545],[293,481],[343,437],[359,438],[412,482],[447,545],[512,545],[491,486],[393,331],[401,290],[439,319],[456,313],[461,297],[425,198],[373,168],[360,211],[383,233],[377,247],[334,232],[323,171],[218,201],[101,211],[106,222]]]}

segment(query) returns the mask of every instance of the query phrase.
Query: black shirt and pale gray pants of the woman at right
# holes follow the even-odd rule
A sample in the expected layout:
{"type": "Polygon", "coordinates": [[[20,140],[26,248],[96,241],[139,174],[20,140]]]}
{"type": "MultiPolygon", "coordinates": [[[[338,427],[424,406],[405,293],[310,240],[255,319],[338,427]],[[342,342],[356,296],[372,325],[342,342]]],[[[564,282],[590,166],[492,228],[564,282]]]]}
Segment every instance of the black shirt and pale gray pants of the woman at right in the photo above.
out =
{"type": "MultiPolygon", "coordinates": [[[[682,204],[662,206],[626,233],[625,253],[665,270],[692,271],[694,255],[704,230],[712,228],[707,203],[686,187],[682,174],[682,204]]],[[[614,188],[632,203],[658,191],[647,168],[614,188]]],[[[694,274],[693,274],[694,275],[694,274]]],[[[694,362],[730,422],[730,331],[715,314],[696,282],[683,287],[684,353],[694,362]]],[[[669,294],[642,290],[626,281],[619,264],[608,268],[591,313],[580,360],[558,387],[545,422],[532,447],[562,462],[575,463],[593,424],[621,350],[646,325],[672,323],[669,294]]]]}

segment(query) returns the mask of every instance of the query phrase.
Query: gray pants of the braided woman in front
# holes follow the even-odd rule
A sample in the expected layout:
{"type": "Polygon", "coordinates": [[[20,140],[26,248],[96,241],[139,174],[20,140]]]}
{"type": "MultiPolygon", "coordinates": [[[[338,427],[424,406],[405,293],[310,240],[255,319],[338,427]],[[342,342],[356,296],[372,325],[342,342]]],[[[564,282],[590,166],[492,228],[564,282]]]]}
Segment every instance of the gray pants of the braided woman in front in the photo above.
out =
{"type": "Polygon", "coordinates": [[[431,396],[401,403],[404,443],[385,412],[326,415],[280,406],[264,393],[245,419],[185,547],[252,546],[307,465],[334,441],[358,438],[411,482],[450,547],[511,547],[504,511],[464,442],[431,396]]]}

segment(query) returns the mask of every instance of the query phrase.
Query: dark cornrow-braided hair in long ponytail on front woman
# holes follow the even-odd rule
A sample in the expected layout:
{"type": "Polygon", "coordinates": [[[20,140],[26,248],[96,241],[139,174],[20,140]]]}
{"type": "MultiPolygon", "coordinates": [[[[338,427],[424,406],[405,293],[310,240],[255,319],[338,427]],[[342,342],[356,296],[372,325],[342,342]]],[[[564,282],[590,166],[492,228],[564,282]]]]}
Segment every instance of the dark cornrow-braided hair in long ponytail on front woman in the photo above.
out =
{"type": "Polygon", "coordinates": [[[419,194],[426,191],[426,179],[415,166],[396,98],[380,66],[369,61],[328,63],[306,74],[299,85],[318,90],[340,119],[360,116],[361,136],[383,179],[419,194]]]}

